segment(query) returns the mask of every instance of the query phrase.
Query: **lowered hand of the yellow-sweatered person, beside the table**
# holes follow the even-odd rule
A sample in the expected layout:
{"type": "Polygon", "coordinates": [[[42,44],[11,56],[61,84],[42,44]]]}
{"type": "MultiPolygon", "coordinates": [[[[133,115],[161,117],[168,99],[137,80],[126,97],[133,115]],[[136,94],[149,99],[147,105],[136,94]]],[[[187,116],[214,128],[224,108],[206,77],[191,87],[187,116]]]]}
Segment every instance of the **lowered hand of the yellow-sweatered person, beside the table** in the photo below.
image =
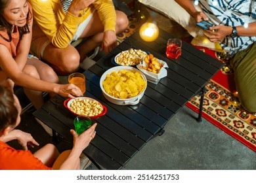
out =
{"type": "Polygon", "coordinates": [[[116,47],[116,44],[116,33],[114,31],[105,31],[103,35],[101,50],[104,50],[105,54],[107,54],[116,47]]]}

